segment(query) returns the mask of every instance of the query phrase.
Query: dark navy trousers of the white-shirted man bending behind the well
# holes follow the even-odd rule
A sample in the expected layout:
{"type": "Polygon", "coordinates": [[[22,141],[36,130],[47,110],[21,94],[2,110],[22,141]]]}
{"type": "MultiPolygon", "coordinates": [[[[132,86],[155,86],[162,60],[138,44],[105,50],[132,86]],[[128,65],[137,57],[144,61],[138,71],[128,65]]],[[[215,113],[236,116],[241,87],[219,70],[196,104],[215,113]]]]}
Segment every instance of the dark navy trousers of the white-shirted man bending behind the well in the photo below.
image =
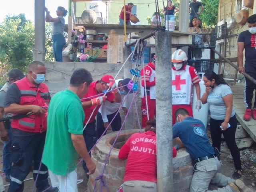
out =
{"type": "MultiPolygon", "coordinates": [[[[118,111],[114,112],[113,114],[107,115],[108,122],[112,121],[112,119],[114,118],[114,116],[116,115],[117,112],[118,111]]],[[[121,129],[121,126],[122,126],[122,120],[120,117],[120,113],[118,112],[116,118],[114,118],[114,120],[111,124],[112,131],[119,131],[121,129]]],[[[97,129],[96,129],[97,140],[102,136],[104,131],[105,131],[105,128],[104,128],[104,122],[102,119],[102,115],[100,112],[98,112],[98,114],[97,114],[97,129]]]]}

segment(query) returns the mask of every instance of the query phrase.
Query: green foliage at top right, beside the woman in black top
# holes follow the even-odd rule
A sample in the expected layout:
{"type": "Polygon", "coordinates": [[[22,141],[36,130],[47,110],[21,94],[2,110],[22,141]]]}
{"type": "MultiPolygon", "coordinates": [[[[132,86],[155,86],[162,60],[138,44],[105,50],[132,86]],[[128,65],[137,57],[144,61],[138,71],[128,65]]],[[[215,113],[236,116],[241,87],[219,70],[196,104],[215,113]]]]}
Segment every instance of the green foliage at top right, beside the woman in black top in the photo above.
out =
{"type": "Polygon", "coordinates": [[[214,27],[218,22],[219,0],[201,0],[204,10],[199,18],[202,20],[203,27],[214,27]]]}

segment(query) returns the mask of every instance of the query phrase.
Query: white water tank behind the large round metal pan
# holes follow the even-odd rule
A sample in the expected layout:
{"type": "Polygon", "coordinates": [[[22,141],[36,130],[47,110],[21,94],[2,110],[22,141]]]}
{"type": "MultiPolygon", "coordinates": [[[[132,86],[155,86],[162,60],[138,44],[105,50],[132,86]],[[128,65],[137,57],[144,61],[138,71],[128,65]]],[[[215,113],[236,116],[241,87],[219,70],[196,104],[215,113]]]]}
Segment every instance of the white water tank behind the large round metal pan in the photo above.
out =
{"type": "Polygon", "coordinates": [[[103,18],[103,23],[106,24],[106,3],[101,0],[91,1],[87,6],[87,10],[93,10],[97,17],[103,18]]]}

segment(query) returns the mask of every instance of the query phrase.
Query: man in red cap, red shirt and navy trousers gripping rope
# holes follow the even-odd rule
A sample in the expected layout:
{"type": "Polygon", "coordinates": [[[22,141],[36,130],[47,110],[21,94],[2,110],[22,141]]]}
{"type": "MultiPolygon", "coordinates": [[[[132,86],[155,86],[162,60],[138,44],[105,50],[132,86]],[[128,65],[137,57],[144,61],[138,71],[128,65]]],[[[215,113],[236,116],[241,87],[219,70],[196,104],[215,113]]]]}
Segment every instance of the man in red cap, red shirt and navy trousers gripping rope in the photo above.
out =
{"type": "MultiPolygon", "coordinates": [[[[111,103],[121,102],[121,95],[116,89],[116,82],[111,75],[104,75],[101,80],[92,82],[89,86],[87,94],[82,99],[82,106],[84,108],[84,141],[86,143],[87,151],[90,151],[94,146],[94,136],[96,128],[95,117],[100,109],[102,103],[107,100],[111,103]],[[112,91],[108,92],[111,88],[112,91]],[[113,90],[115,89],[115,90],[113,90]],[[107,93],[106,93],[107,92],[107,93]],[[98,96],[98,94],[105,93],[104,96],[98,96]],[[106,96],[105,96],[106,95],[106,96]]],[[[83,168],[88,172],[86,162],[83,161],[83,168]]],[[[88,175],[87,175],[88,177],[88,175]]]]}

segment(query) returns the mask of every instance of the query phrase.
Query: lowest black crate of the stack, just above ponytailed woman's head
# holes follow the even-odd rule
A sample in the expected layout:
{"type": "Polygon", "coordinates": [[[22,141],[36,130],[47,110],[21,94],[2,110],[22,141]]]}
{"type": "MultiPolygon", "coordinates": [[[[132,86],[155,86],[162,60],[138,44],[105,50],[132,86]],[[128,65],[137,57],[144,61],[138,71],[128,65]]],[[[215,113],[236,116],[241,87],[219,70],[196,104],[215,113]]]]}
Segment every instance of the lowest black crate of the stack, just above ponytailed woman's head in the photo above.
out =
{"type": "Polygon", "coordinates": [[[214,69],[214,60],[210,59],[198,59],[198,60],[189,60],[188,65],[194,67],[198,73],[204,73],[207,70],[213,71],[214,69]]]}

